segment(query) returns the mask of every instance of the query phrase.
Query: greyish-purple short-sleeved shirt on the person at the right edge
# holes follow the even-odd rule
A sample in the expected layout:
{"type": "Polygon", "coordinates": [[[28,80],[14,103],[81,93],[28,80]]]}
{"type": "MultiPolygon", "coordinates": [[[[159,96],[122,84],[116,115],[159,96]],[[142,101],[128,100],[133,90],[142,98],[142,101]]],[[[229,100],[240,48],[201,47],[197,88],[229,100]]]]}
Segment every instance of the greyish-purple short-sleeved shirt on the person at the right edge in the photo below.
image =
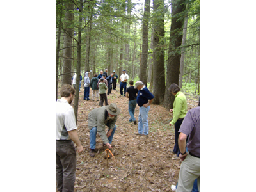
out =
{"type": "Polygon", "coordinates": [[[188,111],[179,132],[189,135],[188,151],[200,157],[200,107],[188,111]]]}

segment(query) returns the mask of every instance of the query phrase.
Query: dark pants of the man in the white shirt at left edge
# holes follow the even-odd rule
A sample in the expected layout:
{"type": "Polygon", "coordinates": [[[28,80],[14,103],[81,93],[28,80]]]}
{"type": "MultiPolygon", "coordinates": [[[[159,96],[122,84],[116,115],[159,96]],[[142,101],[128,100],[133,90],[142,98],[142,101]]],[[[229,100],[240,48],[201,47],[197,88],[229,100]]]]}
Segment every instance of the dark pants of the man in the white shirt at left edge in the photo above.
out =
{"type": "Polygon", "coordinates": [[[74,191],[76,149],[72,140],[56,140],[56,181],[58,191],[74,191]]]}

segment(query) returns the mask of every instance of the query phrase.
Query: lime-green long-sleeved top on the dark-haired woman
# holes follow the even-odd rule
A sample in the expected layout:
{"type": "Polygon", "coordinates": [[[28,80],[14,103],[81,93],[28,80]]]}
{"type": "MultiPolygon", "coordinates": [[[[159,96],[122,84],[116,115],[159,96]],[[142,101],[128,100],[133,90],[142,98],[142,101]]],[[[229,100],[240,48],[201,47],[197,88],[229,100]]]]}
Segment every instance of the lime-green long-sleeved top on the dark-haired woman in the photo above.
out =
{"type": "Polygon", "coordinates": [[[184,118],[187,114],[187,99],[184,93],[177,92],[173,103],[173,119],[171,124],[174,125],[179,118],[184,118]]]}

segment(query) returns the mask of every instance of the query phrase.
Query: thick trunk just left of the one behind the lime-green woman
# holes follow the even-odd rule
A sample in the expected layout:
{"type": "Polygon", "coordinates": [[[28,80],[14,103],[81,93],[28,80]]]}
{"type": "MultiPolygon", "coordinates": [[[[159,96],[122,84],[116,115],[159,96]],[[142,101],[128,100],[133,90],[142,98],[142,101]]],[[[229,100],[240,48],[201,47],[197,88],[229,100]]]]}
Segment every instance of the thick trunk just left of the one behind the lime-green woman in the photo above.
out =
{"type": "Polygon", "coordinates": [[[155,96],[154,104],[162,104],[164,101],[165,90],[165,72],[164,72],[164,50],[161,49],[161,38],[164,38],[164,14],[162,13],[164,0],[154,0],[153,9],[156,15],[153,22],[154,28],[154,53],[153,53],[153,70],[154,70],[154,87],[153,93],[155,96]]]}

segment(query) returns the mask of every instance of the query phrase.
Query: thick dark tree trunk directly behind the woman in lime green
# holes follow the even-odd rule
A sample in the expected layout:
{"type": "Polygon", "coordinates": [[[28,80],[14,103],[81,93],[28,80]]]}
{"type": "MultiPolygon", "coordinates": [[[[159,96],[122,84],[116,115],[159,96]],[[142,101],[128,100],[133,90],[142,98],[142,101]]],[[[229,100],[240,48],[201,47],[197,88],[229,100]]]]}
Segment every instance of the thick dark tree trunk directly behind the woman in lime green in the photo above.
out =
{"type": "Polygon", "coordinates": [[[175,54],[177,47],[181,45],[182,42],[182,26],[184,24],[184,18],[177,16],[177,13],[183,12],[186,5],[185,0],[172,0],[172,20],[170,29],[170,44],[167,60],[167,76],[166,76],[166,91],[164,95],[164,108],[167,110],[173,108],[173,102],[175,96],[170,93],[168,88],[172,83],[179,84],[179,74],[180,74],[180,53],[175,54]],[[178,20],[179,19],[179,20],[178,20]]]}

